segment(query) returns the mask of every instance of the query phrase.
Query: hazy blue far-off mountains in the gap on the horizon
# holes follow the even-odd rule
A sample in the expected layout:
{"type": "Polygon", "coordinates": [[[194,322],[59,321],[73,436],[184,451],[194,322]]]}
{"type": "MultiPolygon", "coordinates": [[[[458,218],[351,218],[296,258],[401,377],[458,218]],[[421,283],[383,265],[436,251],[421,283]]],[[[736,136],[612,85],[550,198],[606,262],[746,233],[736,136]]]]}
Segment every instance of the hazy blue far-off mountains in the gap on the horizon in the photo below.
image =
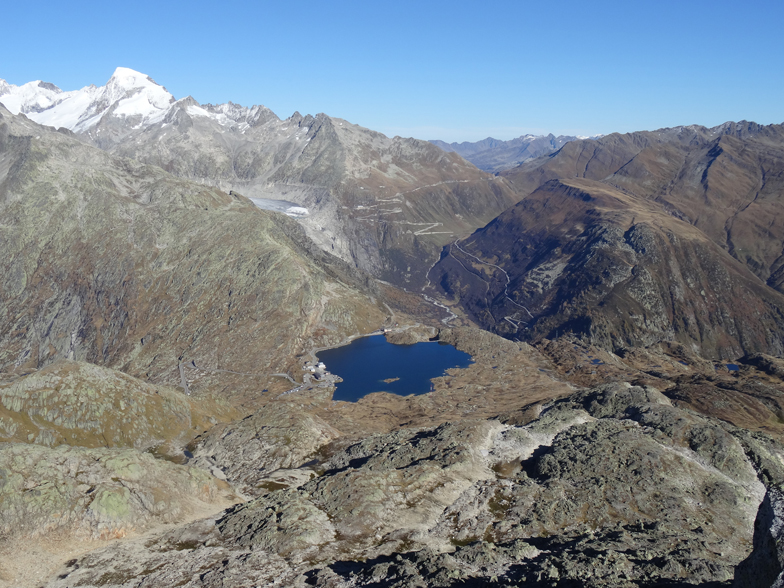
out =
{"type": "MultiPolygon", "coordinates": [[[[593,139],[600,137],[596,135],[593,139]]],[[[444,141],[430,141],[446,152],[454,151],[464,159],[473,163],[479,169],[488,172],[500,172],[516,167],[531,159],[558,151],[569,141],[588,139],[589,137],[575,137],[571,135],[522,135],[510,141],[499,141],[488,137],[474,143],[445,143],[444,141]]]]}

